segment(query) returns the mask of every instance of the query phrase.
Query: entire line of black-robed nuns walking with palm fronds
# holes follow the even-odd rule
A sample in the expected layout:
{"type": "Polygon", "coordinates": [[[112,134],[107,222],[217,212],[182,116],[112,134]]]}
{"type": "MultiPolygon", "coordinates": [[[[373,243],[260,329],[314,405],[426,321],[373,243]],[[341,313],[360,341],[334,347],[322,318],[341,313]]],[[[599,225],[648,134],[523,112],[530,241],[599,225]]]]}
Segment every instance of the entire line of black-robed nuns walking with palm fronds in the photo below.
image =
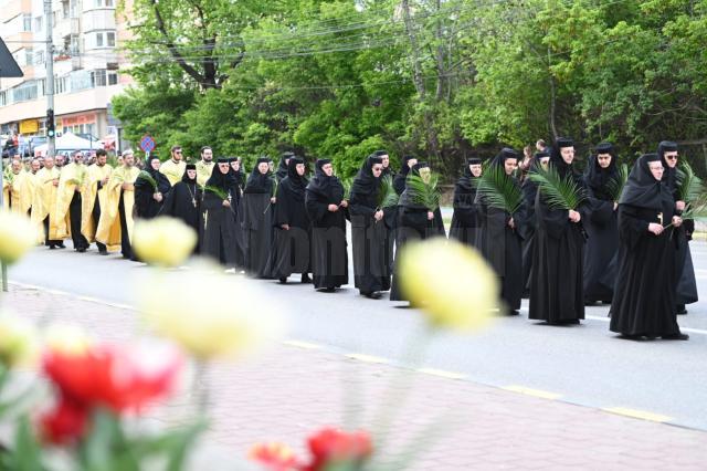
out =
{"type": "MultiPolygon", "coordinates": [[[[535,154],[526,172],[510,148],[486,167],[467,159],[454,190],[450,237],[477,249],[493,266],[504,314],[517,315],[528,297],[530,320],[572,325],[584,318],[585,305],[601,302],[611,304],[610,328],[624,338],[687,339],[676,315],[697,301],[697,289],[688,245],[693,226],[679,217],[685,202],[677,197],[677,145],[663,142],[657,153],[641,156],[618,201],[609,188],[616,159],[614,147],[602,143],[581,174],[568,138],[535,154]],[[475,179],[494,166],[523,195],[513,214],[477,191],[475,179]],[[528,177],[548,166],[587,196],[578,208],[551,205],[528,177]]],[[[308,179],[304,159],[286,154],[276,171],[268,158],[260,158],[244,178],[239,160],[222,158],[203,187],[188,165],[182,180],[168,189],[148,165],[166,197],[158,200],[151,188],[141,197],[138,179],[136,214],[184,220],[199,233],[197,251],[229,270],[281,283],[298,274],[302,283],[325,292],[349,283],[350,221],[356,289],[370,299],[390,291],[391,301],[405,301],[397,254],[410,241],[446,237],[440,208],[424,206],[410,185],[412,175],[429,181],[429,164],[405,156],[394,172],[379,150],[365,159],[349,195],[331,160],[318,159],[308,179]],[[399,196],[397,206],[381,207],[384,177],[399,196]]]]}

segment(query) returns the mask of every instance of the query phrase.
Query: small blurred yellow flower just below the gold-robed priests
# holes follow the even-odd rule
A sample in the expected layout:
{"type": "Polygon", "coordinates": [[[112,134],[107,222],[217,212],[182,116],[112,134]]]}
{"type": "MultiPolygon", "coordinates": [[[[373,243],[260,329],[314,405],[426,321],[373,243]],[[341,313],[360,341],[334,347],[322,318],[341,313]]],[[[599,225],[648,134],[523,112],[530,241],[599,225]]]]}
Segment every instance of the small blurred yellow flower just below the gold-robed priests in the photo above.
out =
{"type": "Polygon", "coordinates": [[[197,245],[194,230],[179,219],[160,216],[135,223],[133,248],[147,263],[179,266],[197,245]]]}

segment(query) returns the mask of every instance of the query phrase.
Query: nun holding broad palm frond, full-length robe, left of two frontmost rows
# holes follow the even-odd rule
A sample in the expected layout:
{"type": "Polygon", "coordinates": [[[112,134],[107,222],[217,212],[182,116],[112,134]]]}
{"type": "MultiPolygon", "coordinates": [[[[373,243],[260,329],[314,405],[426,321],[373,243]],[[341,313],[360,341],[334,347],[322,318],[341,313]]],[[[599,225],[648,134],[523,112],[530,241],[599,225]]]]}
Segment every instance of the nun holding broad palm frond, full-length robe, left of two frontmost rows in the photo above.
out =
{"type": "MultiPolygon", "coordinates": [[[[571,160],[567,164],[561,156],[562,149],[573,147],[571,139],[558,138],[552,147],[550,165],[561,178],[569,175],[583,189],[582,178],[573,172],[571,160]]],[[[574,209],[576,213],[579,211],[580,208],[574,209]]],[[[581,219],[573,222],[570,214],[574,213],[551,208],[539,189],[535,199],[535,214],[537,229],[528,317],[551,325],[579,324],[584,318],[582,262],[585,239],[581,219]]]]}

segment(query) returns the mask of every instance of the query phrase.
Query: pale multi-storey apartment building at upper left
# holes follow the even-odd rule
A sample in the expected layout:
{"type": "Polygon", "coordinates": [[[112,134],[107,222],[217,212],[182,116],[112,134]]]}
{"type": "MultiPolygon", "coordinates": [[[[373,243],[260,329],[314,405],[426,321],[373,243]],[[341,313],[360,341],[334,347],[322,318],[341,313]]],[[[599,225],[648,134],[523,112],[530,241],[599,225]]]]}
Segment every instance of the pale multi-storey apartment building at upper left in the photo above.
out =
{"type": "Polygon", "coordinates": [[[118,135],[109,103],[130,78],[120,73],[126,60],[117,46],[129,32],[126,20],[116,18],[117,1],[52,0],[50,56],[44,0],[0,0],[0,38],[24,72],[22,78],[0,78],[0,134],[45,134],[45,61],[52,60],[56,132],[118,135]]]}

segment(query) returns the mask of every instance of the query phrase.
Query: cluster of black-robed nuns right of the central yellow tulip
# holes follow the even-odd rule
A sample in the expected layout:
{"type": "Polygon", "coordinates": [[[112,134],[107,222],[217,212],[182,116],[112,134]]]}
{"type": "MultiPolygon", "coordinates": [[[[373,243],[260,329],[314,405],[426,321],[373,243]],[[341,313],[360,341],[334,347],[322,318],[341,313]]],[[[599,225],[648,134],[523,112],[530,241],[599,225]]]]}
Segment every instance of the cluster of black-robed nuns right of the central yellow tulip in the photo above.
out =
{"type": "Polygon", "coordinates": [[[574,144],[558,138],[536,153],[528,171],[551,165],[585,198],[578,208],[551,205],[538,185],[514,177],[518,154],[504,148],[489,164],[502,166],[524,197],[514,214],[488,203],[474,179],[482,161],[468,159],[454,191],[451,237],[478,249],[499,278],[508,314],[529,297],[529,318],[551,325],[579,324],[584,306],[610,304],[612,332],[643,341],[687,339],[677,314],[697,301],[688,241],[693,221],[680,219],[677,145],[659,144],[634,164],[618,200],[612,181],[618,156],[610,143],[595,147],[583,174],[574,168],[574,144]]]}

